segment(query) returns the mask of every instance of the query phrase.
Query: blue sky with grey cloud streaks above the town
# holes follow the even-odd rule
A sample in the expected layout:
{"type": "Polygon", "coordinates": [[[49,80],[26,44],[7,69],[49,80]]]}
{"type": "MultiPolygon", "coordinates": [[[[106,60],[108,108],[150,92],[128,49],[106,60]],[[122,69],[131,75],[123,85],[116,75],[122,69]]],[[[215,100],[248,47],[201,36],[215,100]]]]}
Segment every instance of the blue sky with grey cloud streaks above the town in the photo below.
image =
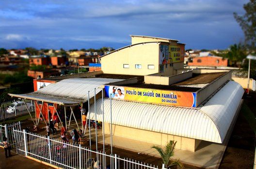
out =
{"type": "Polygon", "coordinates": [[[248,0],[1,0],[0,47],[120,48],[129,35],[224,49],[243,32],[233,12],[248,0]]]}

